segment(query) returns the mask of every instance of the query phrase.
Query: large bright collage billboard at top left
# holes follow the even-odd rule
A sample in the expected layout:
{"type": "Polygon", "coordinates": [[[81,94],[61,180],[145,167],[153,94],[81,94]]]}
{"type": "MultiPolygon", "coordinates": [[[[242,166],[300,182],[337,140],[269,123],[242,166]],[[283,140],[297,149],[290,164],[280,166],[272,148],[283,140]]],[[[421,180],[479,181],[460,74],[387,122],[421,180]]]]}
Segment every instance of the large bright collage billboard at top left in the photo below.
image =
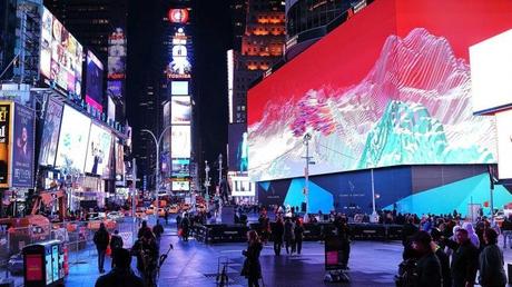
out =
{"type": "Polygon", "coordinates": [[[83,48],[51,14],[42,9],[40,72],[46,82],[81,96],[83,48]]]}

